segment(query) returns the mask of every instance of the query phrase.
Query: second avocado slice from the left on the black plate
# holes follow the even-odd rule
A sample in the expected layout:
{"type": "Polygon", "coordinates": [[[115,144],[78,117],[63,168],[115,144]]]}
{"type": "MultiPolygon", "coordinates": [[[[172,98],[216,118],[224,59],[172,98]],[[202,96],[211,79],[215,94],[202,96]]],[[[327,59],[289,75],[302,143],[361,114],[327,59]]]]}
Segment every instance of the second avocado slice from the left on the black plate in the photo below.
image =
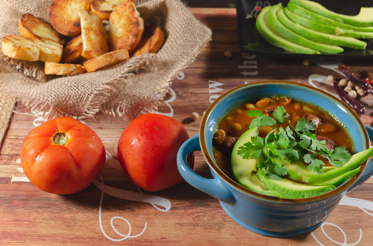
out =
{"type": "Polygon", "coordinates": [[[310,48],[314,50],[318,50],[325,53],[341,53],[343,52],[343,48],[334,46],[334,45],[325,45],[316,42],[312,42],[308,39],[303,38],[299,34],[291,31],[287,27],[285,27],[277,18],[276,12],[283,8],[281,3],[273,5],[269,11],[268,22],[272,28],[276,29],[284,38],[287,40],[291,40],[292,42],[310,48]]]}

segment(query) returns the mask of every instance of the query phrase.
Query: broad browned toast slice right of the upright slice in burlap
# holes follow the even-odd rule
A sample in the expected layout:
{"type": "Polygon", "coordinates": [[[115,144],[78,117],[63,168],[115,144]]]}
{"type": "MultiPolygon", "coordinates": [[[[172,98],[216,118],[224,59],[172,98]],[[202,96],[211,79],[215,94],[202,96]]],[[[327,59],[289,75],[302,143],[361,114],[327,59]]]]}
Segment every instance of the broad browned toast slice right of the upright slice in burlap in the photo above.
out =
{"type": "Polygon", "coordinates": [[[144,20],[132,1],[117,5],[109,18],[109,43],[112,50],[136,49],[144,32],[144,20]]]}

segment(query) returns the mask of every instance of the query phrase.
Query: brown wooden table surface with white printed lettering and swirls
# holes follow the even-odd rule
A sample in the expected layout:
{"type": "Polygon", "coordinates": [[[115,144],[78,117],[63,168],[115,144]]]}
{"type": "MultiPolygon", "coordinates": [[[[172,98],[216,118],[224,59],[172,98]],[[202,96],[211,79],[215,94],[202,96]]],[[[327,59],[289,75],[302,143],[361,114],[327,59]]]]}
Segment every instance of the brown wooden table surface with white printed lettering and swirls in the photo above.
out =
{"type": "MultiPolygon", "coordinates": [[[[305,66],[296,59],[242,54],[238,48],[235,9],[192,11],[213,30],[212,41],[174,79],[159,109],[184,123],[189,136],[198,132],[201,121],[201,117],[192,121],[192,112],[202,116],[219,95],[243,83],[269,79],[311,81],[315,86],[333,90],[321,83],[327,75],[337,75],[325,65],[336,67],[342,61],[311,61],[311,65],[305,66]],[[225,51],[230,51],[232,57],[226,57],[225,51]]],[[[372,71],[372,63],[345,63],[355,72],[372,71]]],[[[368,75],[373,77],[372,73],[368,75]]],[[[21,103],[16,111],[28,112],[21,103]]],[[[362,117],[364,123],[371,124],[372,111],[369,108],[362,117]]],[[[333,240],[339,245],[373,244],[373,179],[349,193],[313,233],[291,239],[268,238],[233,222],[216,199],[185,182],[151,193],[165,198],[157,203],[168,211],[158,210],[148,202],[123,199],[123,192],[118,190],[139,192],[115,160],[119,136],[128,123],[101,114],[81,120],[93,128],[107,150],[102,181],[98,178],[95,184],[76,194],[55,195],[28,182],[20,165],[22,141],[34,124],[42,121],[14,113],[0,151],[0,245],[116,245],[114,241],[123,239],[123,245],[338,245],[333,240]]],[[[195,155],[194,171],[209,176],[200,153],[195,155]]],[[[127,198],[133,194],[127,194],[127,198]]]]}

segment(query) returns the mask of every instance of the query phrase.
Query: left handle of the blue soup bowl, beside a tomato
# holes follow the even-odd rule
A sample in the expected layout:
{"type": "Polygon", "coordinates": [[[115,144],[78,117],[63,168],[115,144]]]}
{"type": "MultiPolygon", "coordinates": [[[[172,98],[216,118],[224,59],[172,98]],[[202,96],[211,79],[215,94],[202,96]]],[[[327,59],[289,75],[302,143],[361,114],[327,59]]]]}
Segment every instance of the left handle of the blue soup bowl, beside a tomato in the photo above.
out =
{"type": "Polygon", "coordinates": [[[178,169],[182,177],[195,188],[215,197],[216,199],[233,204],[235,202],[232,194],[224,187],[218,179],[206,179],[193,172],[187,165],[187,155],[193,151],[201,150],[199,144],[199,134],[189,138],[180,147],[177,162],[178,169]]]}

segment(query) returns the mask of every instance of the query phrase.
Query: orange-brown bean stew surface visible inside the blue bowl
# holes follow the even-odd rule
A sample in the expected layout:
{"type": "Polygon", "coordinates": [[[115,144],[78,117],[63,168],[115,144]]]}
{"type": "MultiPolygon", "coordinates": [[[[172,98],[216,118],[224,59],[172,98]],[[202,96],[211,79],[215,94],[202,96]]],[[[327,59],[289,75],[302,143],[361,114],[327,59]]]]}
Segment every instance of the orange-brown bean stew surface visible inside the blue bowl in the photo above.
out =
{"type": "MultiPolygon", "coordinates": [[[[283,106],[285,108],[285,111],[288,113],[289,122],[293,126],[295,126],[295,124],[301,118],[308,119],[307,116],[315,116],[316,119],[320,120],[320,123],[317,125],[317,129],[315,131],[317,136],[330,138],[335,142],[336,146],[344,146],[348,151],[350,151],[350,153],[353,152],[350,136],[343,126],[327,112],[324,112],[315,106],[311,106],[291,98],[278,96],[262,98],[254,103],[241,105],[229,112],[218,124],[215,131],[212,142],[212,152],[219,168],[230,178],[232,178],[230,164],[232,146],[227,147],[227,141],[229,141],[229,139],[232,137],[237,139],[249,129],[250,123],[254,118],[250,118],[246,114],[246,111],[260,110],[264,115],[272,116],[271,110],[273,111],[273,109],[277,108],[278,106],[283,106]]],[[[285,128],[288,125],[287,122],[288,121],[282,125],[277,124],[276,126],[285,128]]],[[[272,129],[273,127],[271,126],[260,127],[259,136],[265,137],[272,129]]],[[[330,164],[326,163],[326,166],[327,165],[330,164]]]]}

